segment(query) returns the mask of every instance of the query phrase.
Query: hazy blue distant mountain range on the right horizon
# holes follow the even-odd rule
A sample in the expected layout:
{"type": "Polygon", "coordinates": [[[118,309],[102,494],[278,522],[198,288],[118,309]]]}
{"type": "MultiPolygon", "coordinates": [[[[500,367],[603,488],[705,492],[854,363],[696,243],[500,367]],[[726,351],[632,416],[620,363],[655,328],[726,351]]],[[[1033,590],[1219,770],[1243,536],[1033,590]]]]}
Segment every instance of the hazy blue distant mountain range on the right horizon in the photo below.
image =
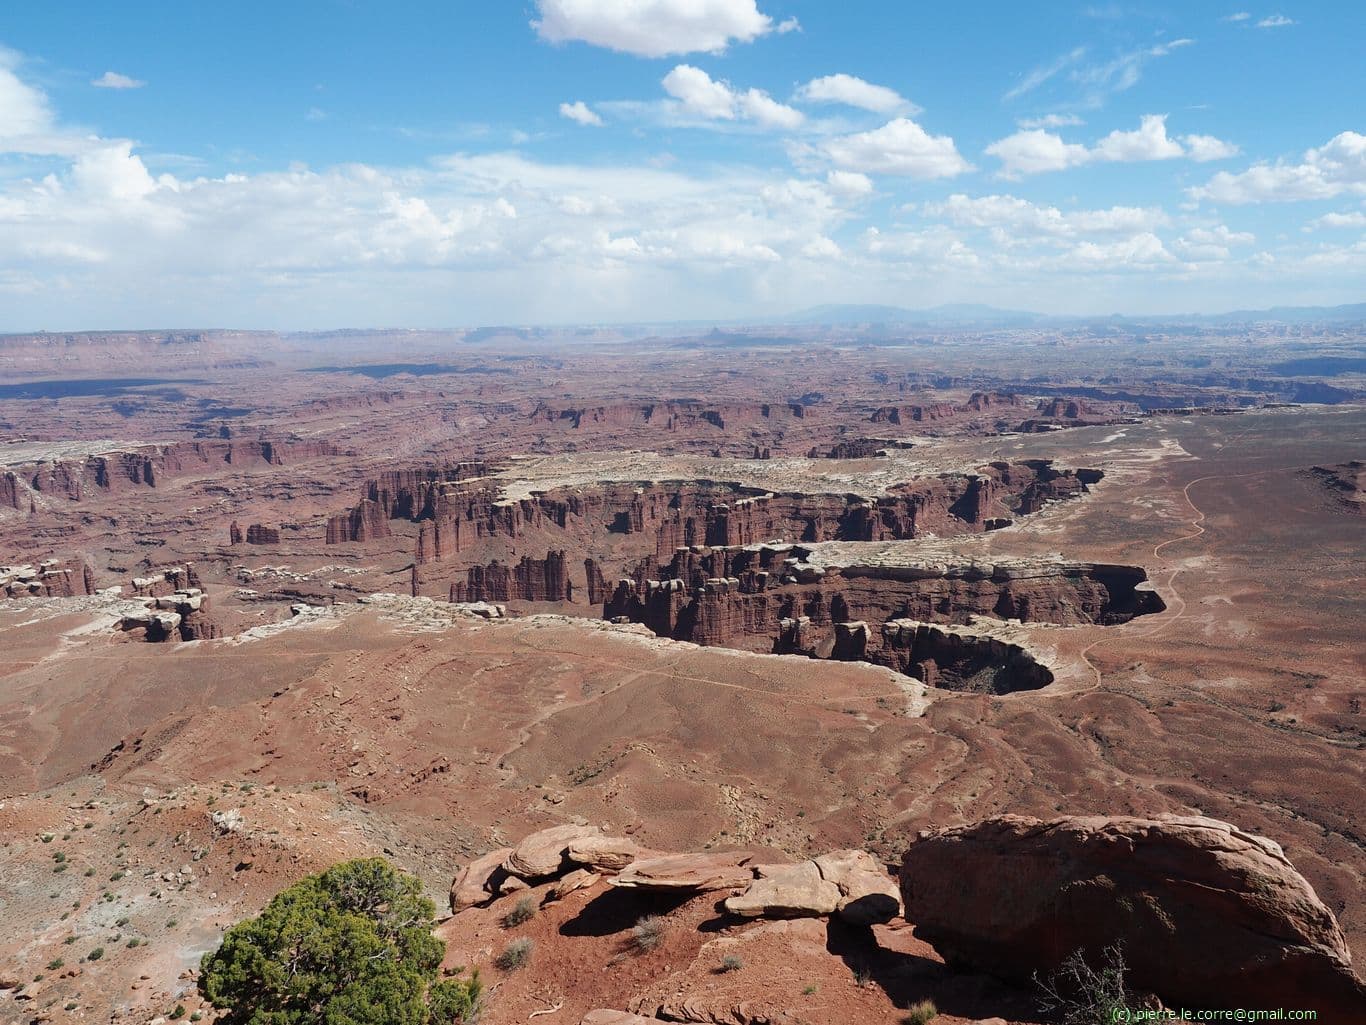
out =
{"type": "Polygon", "coordinates": [[[1318,321],[1366,320],[1366,302],[1346,306],[1273,306],[1265,310],[1232,310],[1229,313],[1168,313],[1153,316],[1052,316],[1029,310],[1005,310],[981,303],[947,303],[923,310],[903,306],[833,303],[813,306],[787,316],[765,317],[764,324],[922,324],[926,327],[996,327],[1023,328],[1052,324],[1246,324],[1277,321],[1305,324],[1318,321]]]}

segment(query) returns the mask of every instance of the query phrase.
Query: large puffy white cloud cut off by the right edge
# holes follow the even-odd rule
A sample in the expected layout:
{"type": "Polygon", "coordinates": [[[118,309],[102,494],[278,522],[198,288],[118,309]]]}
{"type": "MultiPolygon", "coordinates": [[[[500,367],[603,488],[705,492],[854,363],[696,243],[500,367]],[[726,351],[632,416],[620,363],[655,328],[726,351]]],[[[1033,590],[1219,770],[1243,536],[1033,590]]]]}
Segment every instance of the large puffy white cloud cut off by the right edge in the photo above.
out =
{"type": "Polygon", "coordinates": [[[1366,194],[1366,135],[1344,131],[1305,152],[1299,164],[1257,164],[1240,174],[1220,171],[1188,189],[1193,200],[1224,204],[1294,202],[1366,194]]]}

